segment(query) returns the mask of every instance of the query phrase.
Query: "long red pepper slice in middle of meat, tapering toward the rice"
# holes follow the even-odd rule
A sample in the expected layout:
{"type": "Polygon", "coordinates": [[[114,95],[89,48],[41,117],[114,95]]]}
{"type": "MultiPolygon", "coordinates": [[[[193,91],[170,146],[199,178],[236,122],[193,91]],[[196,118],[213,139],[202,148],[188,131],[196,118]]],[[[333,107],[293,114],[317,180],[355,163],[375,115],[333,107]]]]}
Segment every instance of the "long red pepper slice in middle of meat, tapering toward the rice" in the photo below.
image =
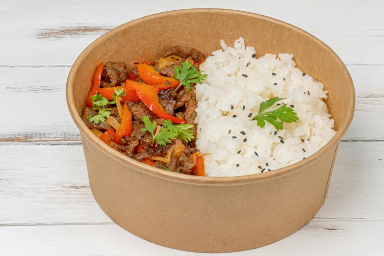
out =
{"type": "Polygon", "coordinates": [[[144,83],[138,83],[132,80],[126,80],[126,88],[128,90],[135,89],[136,95],[140,100],[152,111],[157,117],[162,119],[169,119],[175,124],[186,124],[184,120],[181,120],[175,116],[171,116],[165,112],[164,107],[160,104],[157,97],[156,89],[154,86],[144,83]]]}

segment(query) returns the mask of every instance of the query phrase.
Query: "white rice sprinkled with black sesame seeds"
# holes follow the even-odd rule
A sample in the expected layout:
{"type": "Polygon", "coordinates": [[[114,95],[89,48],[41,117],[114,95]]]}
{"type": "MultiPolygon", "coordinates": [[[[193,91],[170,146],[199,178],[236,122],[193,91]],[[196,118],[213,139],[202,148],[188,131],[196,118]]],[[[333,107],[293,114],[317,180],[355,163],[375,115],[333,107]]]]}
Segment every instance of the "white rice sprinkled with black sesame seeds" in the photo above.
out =
{"type": "MultiPolygon", "coordinates": [[[[199,101],[196,145],[201,152],[210,153],[205,156],[206,176],[240,176],[276,170],[314,154],[331,140],[336,132],[323,102],[327,91],[323,90],[322,83],[307,74],[303,76],[303,72],[295,68],[293,55],[279,54],[277,58],[265,54],[256,59],[252,57],[255,48],[245,47],[243,38],[234,42],[234,48],[223,40],[220,44],[223,50],[212,52],[213,56],[207,57],[200,66],[208,77],[205,83],[196,86],[199,101]],[[276,96],[287,98],[278,103],[294,105],[300,120],[284,123],[283,129],[274,135],[276,128],[271,124],[266,122],[265,127],[260,128],[251,119],[258,113],[260,102],[276,96]],[[250,113],[252,117],[248,117],[250,113]]],[[[275,104],[270,110],[278,107],[275,104]]]]}

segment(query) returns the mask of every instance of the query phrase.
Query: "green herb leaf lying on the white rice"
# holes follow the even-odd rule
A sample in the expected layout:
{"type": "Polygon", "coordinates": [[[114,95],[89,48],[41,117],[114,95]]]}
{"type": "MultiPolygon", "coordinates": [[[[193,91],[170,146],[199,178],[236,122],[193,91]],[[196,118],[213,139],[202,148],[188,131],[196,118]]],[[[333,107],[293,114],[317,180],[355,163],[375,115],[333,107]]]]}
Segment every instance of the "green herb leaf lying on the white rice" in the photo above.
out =
{"type": "Polygon", "coordinates": [[[273,125],[278,131],[282,130],[283,123],[297,123],[299,118],[297,114],[293,112],[293,109],[287,107],[286,104],[283,104],[278,109],[273,111],[264,112],[267,108],[273,106],[276,102],[284,100],[285,98],[273,97],[269,100],[260,103],[260,110],[258,114],[252,118],[252,120],[257,120],[257,126],[264,128],[265,121],[273,125]],[[279,121],[279,120],[280,121],[279,121]]]}

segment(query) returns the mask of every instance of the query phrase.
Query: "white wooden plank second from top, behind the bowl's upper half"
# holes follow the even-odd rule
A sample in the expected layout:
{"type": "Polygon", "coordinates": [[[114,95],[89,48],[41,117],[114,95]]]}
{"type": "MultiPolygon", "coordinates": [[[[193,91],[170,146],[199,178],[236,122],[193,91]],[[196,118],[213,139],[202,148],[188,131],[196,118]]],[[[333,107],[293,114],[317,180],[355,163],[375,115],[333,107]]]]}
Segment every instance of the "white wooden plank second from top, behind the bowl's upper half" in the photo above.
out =
{"type": "MultiPolygon", "coordinates": [[[[344,140],[384,140],[384,65],[348,69],[357,93],[355,119],[344,140]]],[[[65,102],[69,67],[0,67],[0,97],[6,126],[0,141],[79,141],[65,102]],[[17,78],[16,78],[17,77],[17,78]],[[15,104],[15,95],[23,101],[15,104]],[[17,113],[17,114],[16,114],[17,113]]]]}

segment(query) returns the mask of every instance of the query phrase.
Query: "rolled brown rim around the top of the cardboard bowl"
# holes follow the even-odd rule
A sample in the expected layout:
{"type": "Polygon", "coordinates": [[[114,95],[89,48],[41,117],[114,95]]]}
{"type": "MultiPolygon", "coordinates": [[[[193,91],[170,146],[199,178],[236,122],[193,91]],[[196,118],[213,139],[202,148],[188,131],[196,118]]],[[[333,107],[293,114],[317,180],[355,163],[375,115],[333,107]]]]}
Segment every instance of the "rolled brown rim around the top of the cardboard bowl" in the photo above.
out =
{"type": "Polygon", "coordinates": [[[238,10],[231,10],[231,9],[216,9],[216,8],[196,8],[196,9],[181,9],[181,10],[173,10],[173,11],[167,11],[167,12],[161,12],[152,14],[149,16],[145,16],[133,21],[129,21],[123,25],[120,25],[107,33],[103,34],[101,37],[96,39],[94,42],[92,42],[87,48],[85,48],[84,51],[80,53],[80,55],[77,57],[75,63],[73,64],[68,78],[67,78],[67,85],[66,85],[66,99],[67,99],[67,105],[69,112],[71,114],[72,119],[74,120],[77,128],[80,130],[80,133],[83,133],[85,136],[82,136],[81,139],[87,139],[89,142],[91,142],[94,146],[96,146],[99,150],[101,150],[104,154],[107,154],[114,160],[117,160],[118,162],[122,163],[125,166],[128,166],[132,169],[135,169],[136,171],[149,174],[161,179],[168,179],[171,181],[181,182],[181,183],[187,183],[187,184],[196,184],[196,185],[239,185],[239,184],[250,184],[250,183],[256,183],[256,182],[262,182],[266,180],[271,179],[277,179],[286,175],[290,175],[296,171],[299,171],[304,167],[305,165],[309,164],[310,162],[315,161],[316,159],[319,159],[323,157],[327,152],[329,152],[344,136],[347,129],[350,127],[354,111],[355,111],[355,88],[352,81],[352,77],[350,76],[346,66],[341,61],[339,56],[325,43],[320,41],[315,36],[309,34],[305,30],[298,28],[296,26],[290,25],[288,23],[282,22],[280,20],[267,17],[264,15],[251,13],[251,12],[245,12],[245,11],[238,11],[238,10]],[[301,160],[297,163],[294,163],[292,165],[288,165],[286,167],[273,170],[273,172],[266,172],[262,174],[252,174],[252,175],[244,175],[244,176],[235,176],[235,177],[200,177],[200,176],[191,176],[191,175],[184,175],[179,173],[173,173],[173,172],[166,172],[164,170],[160,170],[158,168],[149,166],[147,164],[141,163],[139,161],[136,161],[124,154],[121,154],[120,152],[117,152],[116,150],[112,149],[111,147],[107,146],[105,143],[103,143],[98,137],[96,137],[92,131],[83,123],[80,115],[77,113],[77,109],[75,107],[75,102],[73,98],[73,78],[77,74],[78,67],[80,63],[87,57],[87,55],[98,45],[100,45],[104,39],[114,35],[115,33],[120,32],[121,30],[126,29],[129,26],[135,25],[137,23],[141,23],[144,21],[151,20],[153,18],[157,17],[163,17],[163,16],[169,16],[169,15],[179,15],[179,14],[186,14],[186,13],[193,13],[193,12],[207,12],[207,13],[236,13],[240,15],[246,15],[246,16],[252,16],[257,19],[266,20],[281,26],[284,26],[289,29],[296,30],[297,32],[304,34],[305,36],[309,37],[310,39],[314,40],[317,44],[319,44],[321,47],[329,51],[329,54],[333,55],[335,58],[335,61],[341,66],[343,75],[347,77],[348,84],[347,86],[350,87],[349,89],[352,91],[352,97],[349,99],[348,102],[348,109],[347,114],[344,119],[344,122],[340,125],[338,131],[333,136],[333,138],[319,151],[316,153],[308,156],[306,159],[301,160]]]}

